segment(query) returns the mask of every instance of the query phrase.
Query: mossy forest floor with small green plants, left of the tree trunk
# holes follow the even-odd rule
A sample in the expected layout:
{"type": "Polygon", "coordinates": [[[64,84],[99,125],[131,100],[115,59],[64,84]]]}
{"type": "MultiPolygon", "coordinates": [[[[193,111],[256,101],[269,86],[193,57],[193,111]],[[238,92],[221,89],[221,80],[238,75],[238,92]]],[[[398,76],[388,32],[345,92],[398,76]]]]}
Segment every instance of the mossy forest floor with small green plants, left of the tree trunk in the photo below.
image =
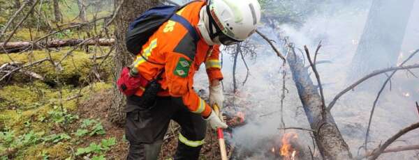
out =
{"type": "Polygon", "coordinates": [[[24,68],[45,77],[43,81],[16,72],[1,82],[0,159],[124,156],[112,154],[118,147],[126,146],[122,129],[115,129],[106,121],[112,88],[111,58],[94,62],[94,54],[78,49],[63,58],[70,49],[0,55],[0,65],[11,61],[27,65],[49,57],[58,63],[64,59],[60,65],[45,61],[24,68]]]}

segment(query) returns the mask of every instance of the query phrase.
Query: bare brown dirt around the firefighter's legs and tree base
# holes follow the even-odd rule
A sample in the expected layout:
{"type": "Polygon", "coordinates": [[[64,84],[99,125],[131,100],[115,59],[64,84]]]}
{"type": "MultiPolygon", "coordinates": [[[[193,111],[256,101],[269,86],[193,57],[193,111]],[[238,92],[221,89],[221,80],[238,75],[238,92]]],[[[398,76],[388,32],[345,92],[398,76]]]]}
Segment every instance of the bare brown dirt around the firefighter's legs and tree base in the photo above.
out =
{"type": "MultiPolygon", "coordinates": [[[[82,104],[79,106],[78,113],[80,118],[101,118],[103,127],[105,127],[105,130],[107,131],[106,138],[115,137],[117,139],[124,139],[124,127],[114,125],[106,120],[108,118],[108,107],[111,103],[109,101],[109,99],[111,99],[111,94],[112,93],[110,90],[101,93],[95,93],[89,100],[82,102],[82,104]]],[[[166,133],[163,146],[161,147],[159,159],[170,159],[170,157],[175,154],[178,134],[179,125],[177,125],[175,122],[171,122],[169,125],[168,133],[166,133]]],[[[85,144],[80,145],[86,145],[92,141],[100,140],[100,137],[90,137],[84,141],[85,144]]],[[[126,159],[127,152],[128,142],[118,141],[117,145],[112,147],[112,150],[108,152],[106,157],[109,159],[126,159]]],[[[207,136],[205,138],[203,149],[201,150],[200,159],[221,159],[216,133],[210,128],[207,129],[207,136]]]]}

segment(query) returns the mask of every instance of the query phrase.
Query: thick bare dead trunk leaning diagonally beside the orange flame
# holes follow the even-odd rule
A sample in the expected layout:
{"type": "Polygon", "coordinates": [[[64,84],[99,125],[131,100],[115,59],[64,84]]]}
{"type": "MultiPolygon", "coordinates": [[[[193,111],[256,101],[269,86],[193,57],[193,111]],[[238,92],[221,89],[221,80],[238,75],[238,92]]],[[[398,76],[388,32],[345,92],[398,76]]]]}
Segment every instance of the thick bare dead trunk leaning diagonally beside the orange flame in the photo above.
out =
{"type": "Polygon", "coordinates": [[[335,120],[322,104],[321,96],[309,77],[307,67],[304,67],[301,58],[295,55],[293,49],[289,51],[287,61],[311,129],[316,131],[314,135],[318,150],[325,159],[352,159],[335,120]]]}

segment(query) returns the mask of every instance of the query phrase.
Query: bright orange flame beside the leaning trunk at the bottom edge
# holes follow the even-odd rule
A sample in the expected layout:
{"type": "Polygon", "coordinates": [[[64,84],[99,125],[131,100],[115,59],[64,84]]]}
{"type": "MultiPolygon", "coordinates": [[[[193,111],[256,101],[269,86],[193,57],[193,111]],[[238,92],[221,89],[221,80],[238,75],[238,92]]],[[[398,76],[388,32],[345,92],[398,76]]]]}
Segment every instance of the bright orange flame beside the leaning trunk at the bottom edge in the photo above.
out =
{"type": "Polygon", "coordinates": [[[292,141],[295,141],[298,138],[297,134],[295,133],[286,133],[284,136],[282,136],[281,139],[281,156],[284,157],[286,160],[295,160],[295,154],[297,154],[297,151],[293,148],[291,145],[292,141]]]}

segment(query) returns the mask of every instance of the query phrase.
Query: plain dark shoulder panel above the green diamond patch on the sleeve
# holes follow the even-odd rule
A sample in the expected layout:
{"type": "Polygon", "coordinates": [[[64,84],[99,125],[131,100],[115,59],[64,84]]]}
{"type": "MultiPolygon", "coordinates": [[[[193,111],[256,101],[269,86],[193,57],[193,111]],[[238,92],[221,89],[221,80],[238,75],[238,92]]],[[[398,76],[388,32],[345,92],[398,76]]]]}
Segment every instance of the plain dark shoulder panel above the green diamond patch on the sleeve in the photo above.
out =
{"type": "Polygon", "coordinates": [[[180,40],[179,44],[175,47],[175,52],[187,56],[192,61],[196,55],[196,42],[194,42],[192,35],[186,33],[186,35],[180,40]]]}

